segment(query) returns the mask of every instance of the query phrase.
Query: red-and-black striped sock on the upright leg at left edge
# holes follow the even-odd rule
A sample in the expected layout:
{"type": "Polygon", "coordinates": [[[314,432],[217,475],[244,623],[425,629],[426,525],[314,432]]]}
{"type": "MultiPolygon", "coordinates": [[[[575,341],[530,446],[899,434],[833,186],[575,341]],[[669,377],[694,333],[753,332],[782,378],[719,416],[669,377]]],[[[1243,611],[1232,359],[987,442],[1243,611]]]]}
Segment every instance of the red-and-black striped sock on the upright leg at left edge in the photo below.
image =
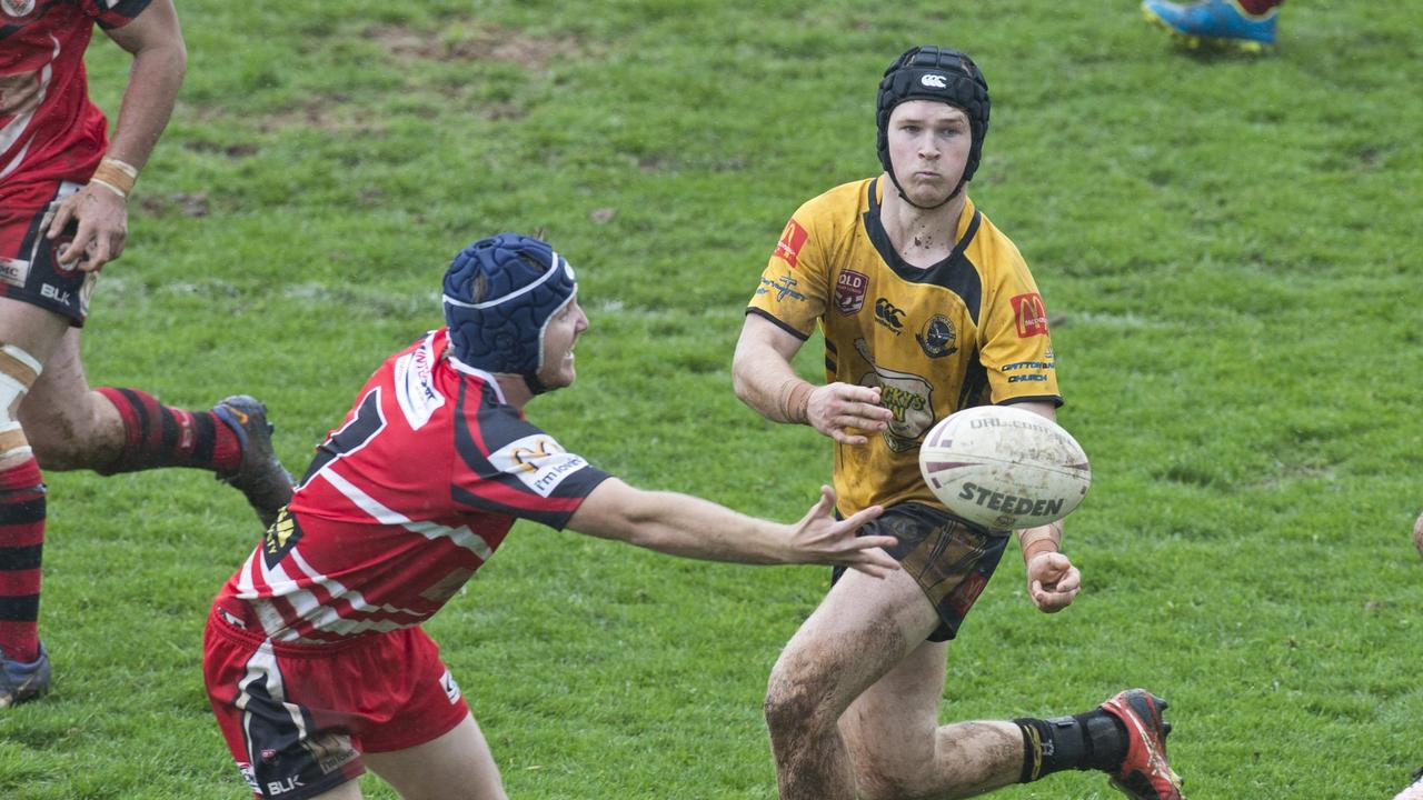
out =
{"type": "Polygon", "coordinates": [[[0,473],[0,649],[11,660],[40,658],[43,481],[34,458],[0,473]]]}

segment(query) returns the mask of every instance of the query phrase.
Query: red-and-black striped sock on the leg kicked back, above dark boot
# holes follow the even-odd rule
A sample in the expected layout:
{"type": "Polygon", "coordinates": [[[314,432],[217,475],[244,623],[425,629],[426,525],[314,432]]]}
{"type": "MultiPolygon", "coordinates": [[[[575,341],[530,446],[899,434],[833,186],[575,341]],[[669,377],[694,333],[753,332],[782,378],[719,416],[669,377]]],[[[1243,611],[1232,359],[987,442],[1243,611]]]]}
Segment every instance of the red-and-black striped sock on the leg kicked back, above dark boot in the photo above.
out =
{"type": "Polygon", "coordinates": [[[212,411],[164,406],[137,389],[95,389],[124,420],[124,448],[101,474],[159,467],[198,467],[232,473],[242,463],[238,434],[212,411]]]}

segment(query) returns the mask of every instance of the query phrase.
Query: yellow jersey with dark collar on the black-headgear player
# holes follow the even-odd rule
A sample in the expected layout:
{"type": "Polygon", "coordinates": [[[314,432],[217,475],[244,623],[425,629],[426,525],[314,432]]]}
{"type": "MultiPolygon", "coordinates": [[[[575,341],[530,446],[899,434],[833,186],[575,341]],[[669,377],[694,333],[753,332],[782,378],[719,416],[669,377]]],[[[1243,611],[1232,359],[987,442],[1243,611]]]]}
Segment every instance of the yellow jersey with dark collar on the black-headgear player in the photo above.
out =
{"type": "Polygon", "coordinates": [[[948,258],[899,258],[878,178],[837,186],[785,225],[747,313],[803,342],[820,325],[825,380],[878,386],[894,411],[867,444],[835,443],[838,508],[942,507],[919,475],[924,434],[985,403],[1062,404],[1047,310],[1017,248],[969,201],[948,258]]]}

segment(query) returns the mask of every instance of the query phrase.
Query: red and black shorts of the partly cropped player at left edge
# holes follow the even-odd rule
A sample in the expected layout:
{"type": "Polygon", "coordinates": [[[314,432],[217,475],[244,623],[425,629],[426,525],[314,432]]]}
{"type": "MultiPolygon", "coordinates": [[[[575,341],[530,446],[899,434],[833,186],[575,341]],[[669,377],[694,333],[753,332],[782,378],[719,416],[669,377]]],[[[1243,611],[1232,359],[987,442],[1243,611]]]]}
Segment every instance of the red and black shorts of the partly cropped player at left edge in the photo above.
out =
{"type": "Polygon", "coordinates": [[[78,269],[78,262],[60,263],[58,252],[74,239],[77,222],[55,239],[46,231],[60,201],[78,189],[57,181],[0,186],[0,298],[67,316],[74,326],[88,316],[98,275],[78,269]]]}

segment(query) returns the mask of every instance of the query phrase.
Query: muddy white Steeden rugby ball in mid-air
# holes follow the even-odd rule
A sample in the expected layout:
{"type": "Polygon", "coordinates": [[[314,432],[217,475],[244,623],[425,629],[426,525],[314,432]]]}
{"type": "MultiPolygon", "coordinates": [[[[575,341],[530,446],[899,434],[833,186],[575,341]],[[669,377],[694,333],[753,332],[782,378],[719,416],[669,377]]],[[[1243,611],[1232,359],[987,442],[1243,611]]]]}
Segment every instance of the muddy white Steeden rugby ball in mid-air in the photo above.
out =
{"type": "Polygon", "coordinates": [[[1077,440],[1012,406],[978,406],[941,420],[919,447],[919,471],[952,514],[1000,531],[1062,520],[1091,485],[1077,440]]]}

